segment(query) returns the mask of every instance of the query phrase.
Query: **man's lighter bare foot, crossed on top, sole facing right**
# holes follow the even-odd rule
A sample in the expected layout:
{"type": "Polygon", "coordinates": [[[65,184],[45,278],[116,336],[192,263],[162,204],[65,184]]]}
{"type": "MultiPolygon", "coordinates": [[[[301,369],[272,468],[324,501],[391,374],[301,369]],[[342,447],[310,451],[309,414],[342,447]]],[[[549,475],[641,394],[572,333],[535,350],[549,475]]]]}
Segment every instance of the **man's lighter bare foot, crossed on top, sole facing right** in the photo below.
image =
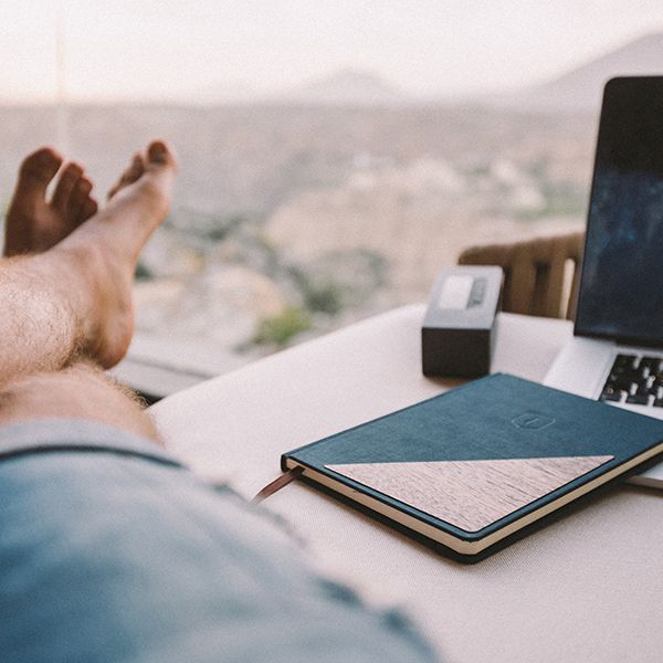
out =
{"type": "Polygon", "coordinates": [[[172,151],[151,143],[134,157],[106,206],[48,252],[77,267],[81,351],[104,368],[115,366],[131,340],[136,264],[168,214],[175,175],[172,151]]]}

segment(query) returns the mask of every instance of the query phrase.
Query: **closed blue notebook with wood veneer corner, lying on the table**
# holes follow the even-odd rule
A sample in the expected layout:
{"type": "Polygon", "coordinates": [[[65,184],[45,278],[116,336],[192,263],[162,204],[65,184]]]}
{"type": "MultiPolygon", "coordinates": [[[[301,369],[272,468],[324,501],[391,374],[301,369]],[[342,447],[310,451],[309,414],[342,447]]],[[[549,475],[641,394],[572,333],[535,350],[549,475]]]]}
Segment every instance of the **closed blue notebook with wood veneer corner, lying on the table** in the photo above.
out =
{"type": "Polygon", "coordinates": [[[663,421],[496,373],[282,466],[471,560],[661,452],[663,421]]]}

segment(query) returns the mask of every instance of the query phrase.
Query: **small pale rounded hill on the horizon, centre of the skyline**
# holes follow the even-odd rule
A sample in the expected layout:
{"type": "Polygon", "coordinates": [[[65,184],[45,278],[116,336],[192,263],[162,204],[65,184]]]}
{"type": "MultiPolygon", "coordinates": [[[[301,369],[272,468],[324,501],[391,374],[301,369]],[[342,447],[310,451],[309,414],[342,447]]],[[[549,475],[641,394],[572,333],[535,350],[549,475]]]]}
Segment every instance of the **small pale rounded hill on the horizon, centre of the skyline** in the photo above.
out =
{"type": "Polygon", "coordinates": [[[320,106],[390,106],[409,99],[378,74],[341,70],[292,90],[281,101],[320,106]]]}

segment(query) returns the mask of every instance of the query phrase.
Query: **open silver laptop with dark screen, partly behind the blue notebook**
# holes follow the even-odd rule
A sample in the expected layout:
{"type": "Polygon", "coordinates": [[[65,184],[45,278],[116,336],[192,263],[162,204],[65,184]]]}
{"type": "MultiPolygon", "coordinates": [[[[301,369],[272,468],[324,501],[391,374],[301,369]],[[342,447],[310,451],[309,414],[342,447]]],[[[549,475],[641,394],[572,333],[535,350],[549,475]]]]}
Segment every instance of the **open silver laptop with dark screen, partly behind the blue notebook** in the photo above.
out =
{"type": "MultiPolygon", "coordinates": [[[[663,419],[663,76],[606,85],[573,339],[544,383],[663,419]]],[[[630,481],[663,488],[663,462],[630,481]]]]}

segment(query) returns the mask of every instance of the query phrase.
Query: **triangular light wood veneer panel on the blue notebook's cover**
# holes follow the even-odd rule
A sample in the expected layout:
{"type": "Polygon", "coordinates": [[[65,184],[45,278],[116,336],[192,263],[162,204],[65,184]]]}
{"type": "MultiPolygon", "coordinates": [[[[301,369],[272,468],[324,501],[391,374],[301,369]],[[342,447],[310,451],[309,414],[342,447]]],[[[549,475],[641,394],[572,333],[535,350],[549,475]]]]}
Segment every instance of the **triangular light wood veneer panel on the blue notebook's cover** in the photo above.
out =
{"type": "Polygon", "coordinates": [[[465,532],[478,532],[611,455],[326,465],[465,532]]]}

